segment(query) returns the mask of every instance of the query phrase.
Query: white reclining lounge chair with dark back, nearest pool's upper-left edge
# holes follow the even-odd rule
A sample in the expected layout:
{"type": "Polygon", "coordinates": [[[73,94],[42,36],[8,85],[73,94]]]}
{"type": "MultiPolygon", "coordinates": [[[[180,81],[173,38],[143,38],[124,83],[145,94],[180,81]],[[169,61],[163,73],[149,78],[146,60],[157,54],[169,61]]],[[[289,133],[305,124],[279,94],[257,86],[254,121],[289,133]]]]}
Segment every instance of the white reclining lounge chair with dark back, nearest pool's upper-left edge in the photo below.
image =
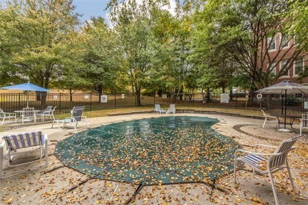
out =
{"type": "Polygon", "coordinates": [[[51,128],[53,128],[54,122],[57,123],[58,129],[63,129],[66,126],[66,124],[69,123],[76,130],[76,127],[80,122],[85,122],[87,124],[87,128],[89,128],[87,117],[82,115],[84,108],[85,108],[84,106],[73,107],[73,110],[71,111],[71,117],[66,117],[65,119],[60,119],[60,120],[53,120],[51,128]],[[62,128],[59,125],[60,123],[63,123],[62,128]]]}

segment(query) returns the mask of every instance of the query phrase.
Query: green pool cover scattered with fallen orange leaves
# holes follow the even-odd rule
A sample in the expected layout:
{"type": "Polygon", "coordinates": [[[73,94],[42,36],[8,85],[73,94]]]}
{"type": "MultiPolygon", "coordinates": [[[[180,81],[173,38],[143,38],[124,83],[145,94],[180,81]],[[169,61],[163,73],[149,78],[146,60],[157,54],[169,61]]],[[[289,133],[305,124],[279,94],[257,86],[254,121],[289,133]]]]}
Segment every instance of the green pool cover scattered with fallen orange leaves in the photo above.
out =
{"type": "Polygon", "coordinates": [[[142,185],[207,182],[233,170],[238,144],[218,119],[167,116],[76,133],[56,145],[64,165],[89,177],[142,185]]]}

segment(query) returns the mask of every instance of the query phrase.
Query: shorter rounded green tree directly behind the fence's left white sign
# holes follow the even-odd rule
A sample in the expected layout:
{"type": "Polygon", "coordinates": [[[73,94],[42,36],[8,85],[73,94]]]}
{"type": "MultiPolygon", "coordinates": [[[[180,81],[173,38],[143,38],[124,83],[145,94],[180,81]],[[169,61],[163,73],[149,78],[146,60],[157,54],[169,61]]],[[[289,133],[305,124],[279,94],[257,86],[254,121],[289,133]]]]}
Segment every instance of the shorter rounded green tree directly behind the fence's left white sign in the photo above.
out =
{"type": "Polygon", "coordinates": [[[82,28],[84,68],[80,75],[85,87],[102,94],[123,90],[117,62],[118,48],[114,33],[107,28],[102,17],[92,17],[82,28]]]}

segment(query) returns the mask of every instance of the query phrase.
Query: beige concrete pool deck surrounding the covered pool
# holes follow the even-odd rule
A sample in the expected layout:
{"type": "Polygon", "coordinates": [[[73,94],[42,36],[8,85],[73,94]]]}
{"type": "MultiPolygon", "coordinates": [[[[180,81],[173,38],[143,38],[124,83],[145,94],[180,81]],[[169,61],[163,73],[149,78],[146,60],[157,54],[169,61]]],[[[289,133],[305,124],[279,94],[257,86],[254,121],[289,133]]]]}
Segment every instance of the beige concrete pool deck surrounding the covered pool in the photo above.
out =
{"type": "MultiPolygon", "coordinates": [[[[277,145],[282,139],[290,138],[294,133],[275,132],[275,125],[269,122],[262,129],[263,120],[215,114],[181,113],[176,115],[207,116],[218,118],[220,122],[214,126],[220,132],[233,138],[243,149],[253,151],[254,144],[277,145]]],[[[112,122],[134,120],[149,117],[160,117],[158,114],[130,114],[108,117],[89,118],[91,128],[107,125],[112,122]]],[[[298,125],[294,126],[298,131],[298,125]]],[[[137,186],[87,178],[79,172],[64,167],[53,155],[57,141],[72,133],[85,129],[80,124],[78,130],[66,128],[51,129],[51,124],[41,124],[24,128],[17,128],[1,132],[1,136],[41,130],[49,138],[49,168],[9,177],[0,181],[0,204],[125,204],[131,198],[137,186]]],[[[307,139],[298,143],[298,149],[290,154],[288,159],[295,181],[297,192],[291,192],[287,171],[282,170],[274,174],[276,190],[280,204],[308,204],[308,146],[307,139]],[[304,142],[304,143],[303,143],[304,142]]],[[[260,152],[264,150],[260,149],[260,152]]],[[[35,158],[37,152],[30,152],[17,160],[35,158]]],[[[43,165],[44,159],[31,163],[27,168],[43,165]]],[[[17,169],[25,169],[20,166],[17,169]]],[[[11,170],[7,169],[6,172],[11,170]]],[[[233,183],[233,175],[228,175],[217,181],[217,187],[227,193],[212,190],[203,183],[185,183],[181,185],[163,185],[144,187],[129,204],[275,204],[271,184],[267,176],[257,175],[257,179],[250,172],[239,171],[237,184],[233,183]]]]}

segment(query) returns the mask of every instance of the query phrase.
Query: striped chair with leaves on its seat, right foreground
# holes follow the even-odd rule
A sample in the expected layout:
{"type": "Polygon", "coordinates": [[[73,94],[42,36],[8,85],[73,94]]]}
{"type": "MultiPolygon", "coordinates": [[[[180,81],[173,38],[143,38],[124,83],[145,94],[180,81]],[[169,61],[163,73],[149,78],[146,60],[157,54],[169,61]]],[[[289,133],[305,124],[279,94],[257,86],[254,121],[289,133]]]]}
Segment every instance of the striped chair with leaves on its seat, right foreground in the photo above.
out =
{"type": "Polygon", "coordinates": [[[292,189],[295,193],[294,182],[292,179],[292,175],[290,172],[290,168],[287,163],[287,155],[290,151],[294,150],[296,147],[293,147],[295,142],[299,139],[305,137],[305,135],[299,135],[296,137],[292,137],[290,139],[285,139],[280,142],[278,147],[268,146],[257,144],[255,145],[255,152],[248,152],[245,150],[237,150],[235,152],[235,160],[234,160],[234,183],[236,183],[236,166],[238,161],[245,163],[246,165],[253,168],[253,174],[255,174],[255,170],[261,174],[268,174],[269,179],[271,180],[272,190],[275,198],[276,204],[279,204],[277,193],[275,190],[275,184],[273,179],[273,174],[281,169],[286,168],[292,189]],[[266,148],[276,148],[274,153],[272,154],[264,154],[264,153],[257,153],[257,147],[266,147],[266,148]],[[243,152],[246,155],[237,158],[237,153],[243,152]]]}

